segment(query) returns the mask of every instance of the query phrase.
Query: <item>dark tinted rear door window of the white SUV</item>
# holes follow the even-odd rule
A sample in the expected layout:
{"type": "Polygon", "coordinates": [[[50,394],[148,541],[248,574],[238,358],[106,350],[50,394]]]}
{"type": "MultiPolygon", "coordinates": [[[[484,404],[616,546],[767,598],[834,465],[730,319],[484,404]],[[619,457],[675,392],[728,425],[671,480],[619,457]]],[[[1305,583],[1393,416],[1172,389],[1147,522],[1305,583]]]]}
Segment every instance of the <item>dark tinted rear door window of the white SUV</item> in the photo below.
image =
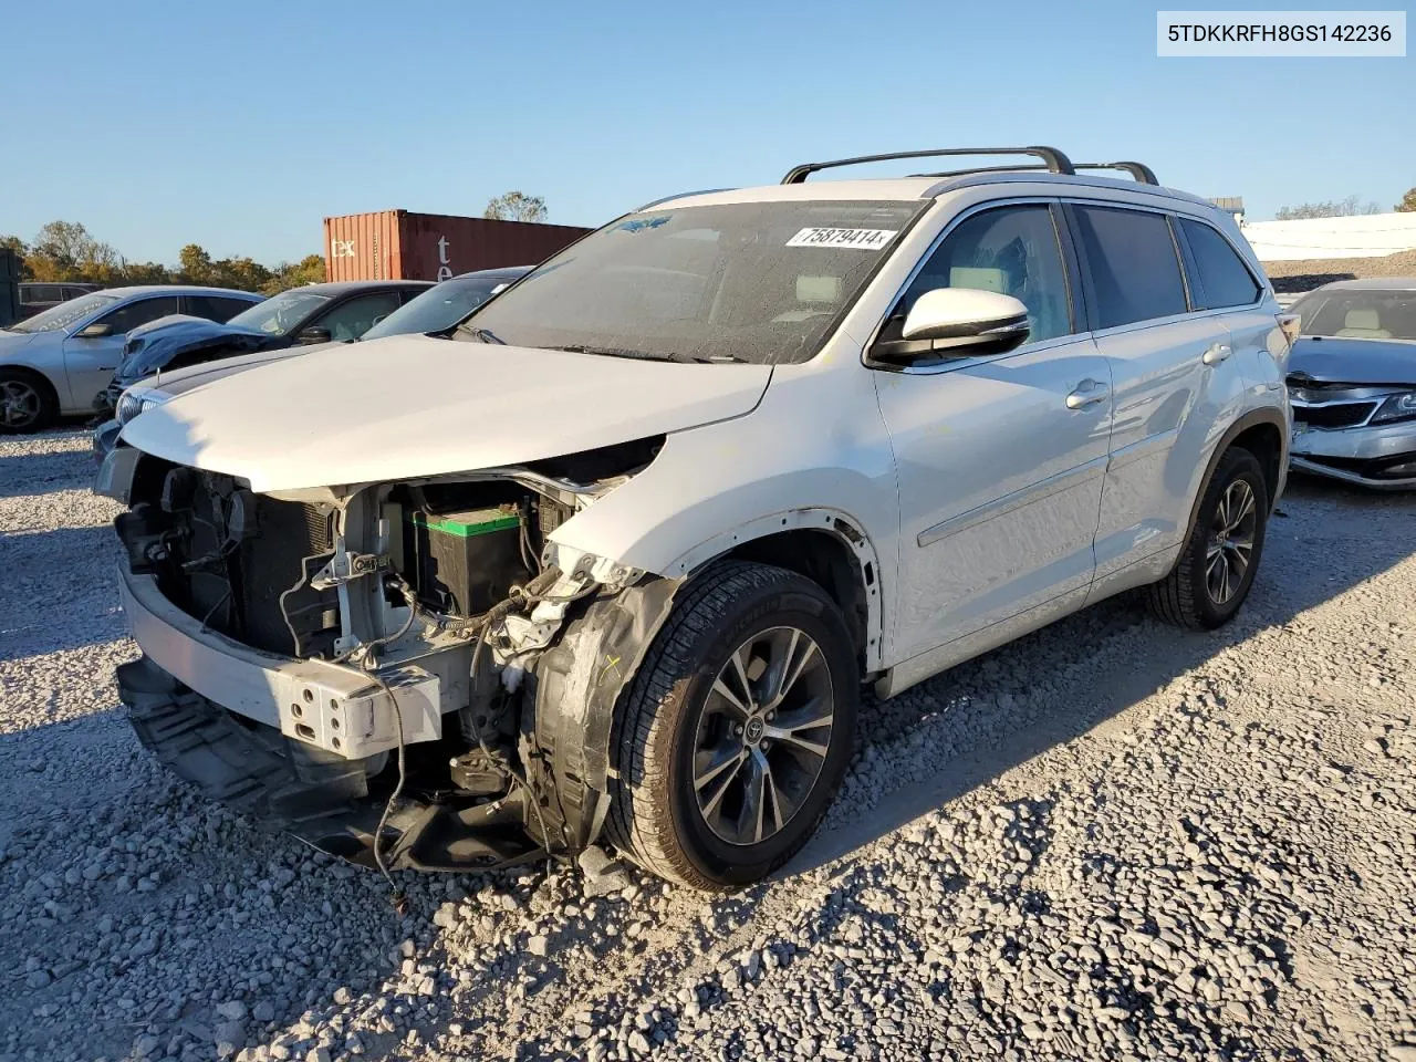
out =
{"type": "Polygon", "coordinates": [[[1076,207],[1078,235],[1096,296],[1096,327],[1185,313],[1185,282],[1164,214],[1076,207]]]}

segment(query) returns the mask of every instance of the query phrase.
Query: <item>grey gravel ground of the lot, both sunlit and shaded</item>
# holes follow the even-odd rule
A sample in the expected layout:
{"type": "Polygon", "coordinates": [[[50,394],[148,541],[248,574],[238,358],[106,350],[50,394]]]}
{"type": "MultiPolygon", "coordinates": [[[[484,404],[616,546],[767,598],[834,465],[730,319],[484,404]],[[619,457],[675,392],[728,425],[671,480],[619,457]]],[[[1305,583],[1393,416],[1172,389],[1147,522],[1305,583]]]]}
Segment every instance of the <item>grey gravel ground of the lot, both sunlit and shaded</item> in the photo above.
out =
{"type": "Polygon", "coordinates": [[[86,446],[0,440],[3,1062],[1416,1062],[1416,497],[1296,484],[1223,632],[1110,602],[867,705],[777,881],[409,875],[399,918],[139,748],[86,446]]]}

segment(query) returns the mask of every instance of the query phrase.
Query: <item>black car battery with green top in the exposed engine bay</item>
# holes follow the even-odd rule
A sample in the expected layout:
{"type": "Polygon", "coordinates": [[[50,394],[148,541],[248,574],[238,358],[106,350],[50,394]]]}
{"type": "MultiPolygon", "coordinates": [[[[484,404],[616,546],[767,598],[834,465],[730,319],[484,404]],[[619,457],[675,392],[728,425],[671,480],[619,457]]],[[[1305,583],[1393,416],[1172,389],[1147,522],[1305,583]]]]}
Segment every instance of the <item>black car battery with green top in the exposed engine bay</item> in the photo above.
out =
{"type": "Polygon", "coordinates": [[[456,513],[411,511],[405,558],[418,599],[443,613],[476,616],[504,600],[530,573],[521,562],[515,506],[456,513]]]}

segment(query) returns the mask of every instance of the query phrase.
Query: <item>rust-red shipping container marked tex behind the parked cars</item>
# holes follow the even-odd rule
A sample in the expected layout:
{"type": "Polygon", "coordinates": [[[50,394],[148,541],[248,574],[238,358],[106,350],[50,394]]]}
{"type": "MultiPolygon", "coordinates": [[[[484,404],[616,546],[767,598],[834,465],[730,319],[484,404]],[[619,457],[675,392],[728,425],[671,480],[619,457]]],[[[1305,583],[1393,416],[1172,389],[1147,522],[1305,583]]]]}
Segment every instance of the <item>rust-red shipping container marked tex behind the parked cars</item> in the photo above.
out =
{"type": "Polygon", "coordinates": [[[446,280],[496,266],[537,265],[590,229],[531,221],[385,210],[324,219],[329,280],[446,280]]]}

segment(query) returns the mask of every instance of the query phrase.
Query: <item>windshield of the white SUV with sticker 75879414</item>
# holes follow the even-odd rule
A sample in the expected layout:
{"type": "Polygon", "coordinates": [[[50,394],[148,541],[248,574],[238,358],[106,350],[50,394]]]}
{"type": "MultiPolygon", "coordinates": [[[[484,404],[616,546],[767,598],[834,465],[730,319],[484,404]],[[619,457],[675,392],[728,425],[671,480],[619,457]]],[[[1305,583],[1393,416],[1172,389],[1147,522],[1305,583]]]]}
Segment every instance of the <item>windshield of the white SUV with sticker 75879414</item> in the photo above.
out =
{"type": "Polygon", "coordinates": [[[733,202],[612,222],[467,319],[462,338],[623,357],[811,358],[925,202],[733,202]]]}

